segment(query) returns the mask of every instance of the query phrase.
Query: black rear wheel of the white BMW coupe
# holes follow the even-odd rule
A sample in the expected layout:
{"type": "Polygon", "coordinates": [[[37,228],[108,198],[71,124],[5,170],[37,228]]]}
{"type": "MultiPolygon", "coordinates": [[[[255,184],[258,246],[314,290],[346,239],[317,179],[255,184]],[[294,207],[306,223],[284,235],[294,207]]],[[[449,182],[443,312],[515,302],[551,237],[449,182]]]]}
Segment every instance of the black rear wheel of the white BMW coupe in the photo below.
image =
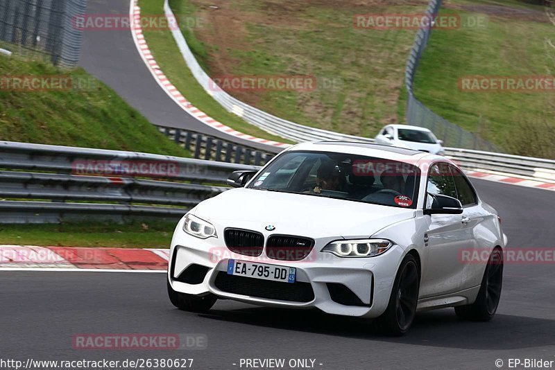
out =
{"type": "Polygon", "coordinates": [[[488,265],[486,265],[484,277],[481,279],[476,301],[466,306],[455,307],[458,317],[470,321],[490,321],[490,319],[493,319],[499,305],[499,298],[501,298],[503,266],[501,249],[493,249],[488,265]]]}

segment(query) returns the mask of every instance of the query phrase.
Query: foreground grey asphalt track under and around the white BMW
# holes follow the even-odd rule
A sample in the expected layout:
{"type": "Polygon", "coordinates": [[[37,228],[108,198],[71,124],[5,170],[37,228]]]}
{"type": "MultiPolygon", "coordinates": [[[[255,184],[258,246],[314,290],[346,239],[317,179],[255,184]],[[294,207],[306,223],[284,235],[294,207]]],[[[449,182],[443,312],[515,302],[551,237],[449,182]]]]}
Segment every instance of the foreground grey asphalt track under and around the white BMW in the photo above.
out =
{"type": "MultiPolygon", "coordinates": [[[[473,180],[497,208],[510,247],[554,247],[552,192],[473,180]]],[[[0,358],[124,360],[194,358],[194,369],[240,369],[241,358],[313,358],[315,369],[497,369],[495,360],[555,360],[554,265],[506,265],[497,315],[460,321],[422,312],[409,334],[379,335],[369,321],[317,310],[219,301],[207,314],[167,299],[164,274],[0,272],[0,358]],[[201,351],[85,351],[82,333],[200,333],[201,351]],[[322,365],[320,365],[322,364],[322,365]]],[[[284,367],[288,369],[289,367],[284,367]]],[[[245,368],[243,368],[245,369],[245,368]]]]}

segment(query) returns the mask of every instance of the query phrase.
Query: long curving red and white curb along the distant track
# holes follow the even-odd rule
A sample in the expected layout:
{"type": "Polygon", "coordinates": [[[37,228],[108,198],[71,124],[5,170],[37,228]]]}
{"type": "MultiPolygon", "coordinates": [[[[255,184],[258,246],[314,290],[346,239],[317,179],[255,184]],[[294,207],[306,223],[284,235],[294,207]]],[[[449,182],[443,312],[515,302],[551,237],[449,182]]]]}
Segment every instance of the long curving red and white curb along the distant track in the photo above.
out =
{"type": "Polygon", "coordinates": [[[146,40],[144,39],[142,26],[141,26],[141,8],[138,6],[138,0],[131,0],[130,5],[130,17],[133,19],[133,26],[131,27],[131,34],[133,35],[133,40],[135,41],[135,45],[137,46],[137,50],[141,55],[144,64],[148,67],[148,70],[151,71],[152,76],[162,87],[166,94],[177,103],[185,112],[194,116],[198,121],[209,125],[210,127],[214,127],[216,130],[221,132],[225,132],[226,134],[230,134],[235,136],[239,139],[245,139],[249,141],[255,141],[256,143],[263,143],[270,146],[276,146],[278,148],[288,148],[290,144],[280,143],[278,141],[272,141],[267,139],[261,139],[259,137],[250,136],[248,134],[244,134],[243,132],[239,132],[237,130],[232,129],[229,126],[224,125],[221,122],[216,121],[214,118],[208,116],[204,112],[200,111],[197,107],[194,107],[186,98],[182,96],[182,94],[178,91],[178,89],[173,86],[170,80],[164,75],[164,72],[160,69],[160,66],[156,63],[150,49],[148,49],[148,44],[146,44],[146,40]]]}

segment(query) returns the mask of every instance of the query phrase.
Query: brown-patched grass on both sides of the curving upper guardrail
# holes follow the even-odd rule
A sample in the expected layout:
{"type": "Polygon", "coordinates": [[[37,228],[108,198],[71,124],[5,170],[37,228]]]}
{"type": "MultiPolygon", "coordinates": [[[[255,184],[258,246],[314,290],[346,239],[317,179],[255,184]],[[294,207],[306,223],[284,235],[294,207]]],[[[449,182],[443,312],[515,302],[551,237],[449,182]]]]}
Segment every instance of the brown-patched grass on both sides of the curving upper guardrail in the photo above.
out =
{"type": "MultiPolygon", "coordinates": [[[[144,14],[153,14],[161,12],[163,0],[139,3],[144,14]]],[[[316,78],[316,89],[310,91],[228,90],[246,103],[304,125],[348,134],[373,136],[382,125],[398,122],[404,64],[415,31],[357,29],[353,17],[422,12],[426,0],[170,3],[182,20],[180,26],[191,49],[210,76],[316,78]]],[[[170,50],[161,33],[147,33],[147,42],[162,69],[189,98],[188,94],[194,94],[186,91],[190,84],[180,83],[188,72],[176,62],[177,53],[164,57],[164,51],[170,50]]]]}

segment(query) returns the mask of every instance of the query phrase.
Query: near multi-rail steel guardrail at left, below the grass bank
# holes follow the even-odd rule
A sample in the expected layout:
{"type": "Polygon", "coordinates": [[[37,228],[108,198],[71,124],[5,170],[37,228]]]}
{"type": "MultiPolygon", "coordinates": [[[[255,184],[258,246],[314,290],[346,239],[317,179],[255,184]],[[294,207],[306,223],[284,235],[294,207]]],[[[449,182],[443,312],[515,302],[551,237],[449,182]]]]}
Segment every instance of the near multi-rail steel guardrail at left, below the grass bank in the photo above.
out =
{"type": "Polygon", "coordinates": [[[0,223],[177,219],[255,166],[0,141],[0,223]]]}

